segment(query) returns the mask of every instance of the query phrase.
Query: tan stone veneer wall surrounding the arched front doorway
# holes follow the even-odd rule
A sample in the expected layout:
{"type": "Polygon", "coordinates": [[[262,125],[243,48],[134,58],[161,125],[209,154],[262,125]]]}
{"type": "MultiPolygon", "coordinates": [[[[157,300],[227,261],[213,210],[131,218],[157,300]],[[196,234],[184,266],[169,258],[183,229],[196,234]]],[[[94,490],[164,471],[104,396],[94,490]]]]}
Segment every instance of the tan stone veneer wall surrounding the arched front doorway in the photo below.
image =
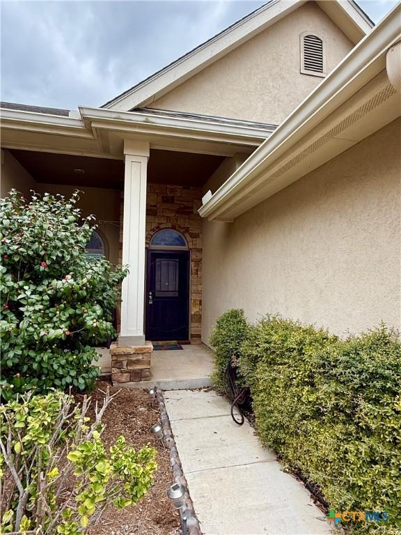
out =
{"type": "MultiPolygon", "coordinates": [[[[195,187],[148,184],[146,201],[146,246],[162,228],[174,228],[185,236],[191,257],[190,325],[192,343],[201,342],[202,328],[202,219],[198,214],[202,191],[195,187]]],[[[120,256],[123,256],[123,192],[120,204],[120,256]]],[[[117,311],[120,329],[120,307],[117,311]]]]}

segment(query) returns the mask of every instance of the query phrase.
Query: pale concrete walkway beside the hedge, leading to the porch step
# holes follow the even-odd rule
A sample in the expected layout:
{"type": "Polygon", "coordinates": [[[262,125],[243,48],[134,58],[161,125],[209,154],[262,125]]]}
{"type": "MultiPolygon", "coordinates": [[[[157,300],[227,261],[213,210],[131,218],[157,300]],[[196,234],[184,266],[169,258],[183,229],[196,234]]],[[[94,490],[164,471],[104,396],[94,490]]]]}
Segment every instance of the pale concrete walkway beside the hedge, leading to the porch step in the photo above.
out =
{"type": "Polygon", "coordinates": [[[308,491],[281,470],[230,403],[213,391],[166,391],[166,409],[205,535],[323,535],[331,532],[308,491]]]}

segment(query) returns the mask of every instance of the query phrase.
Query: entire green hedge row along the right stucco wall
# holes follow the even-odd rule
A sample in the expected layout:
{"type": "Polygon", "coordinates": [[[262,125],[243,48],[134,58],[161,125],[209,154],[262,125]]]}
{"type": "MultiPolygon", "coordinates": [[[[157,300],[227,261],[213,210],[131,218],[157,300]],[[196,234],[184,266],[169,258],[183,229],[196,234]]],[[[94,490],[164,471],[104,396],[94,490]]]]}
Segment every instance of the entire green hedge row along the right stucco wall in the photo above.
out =
{"type": "Polygon", "coordinates": [[[347,340],[279,316],[248,325],[231,310],[211,343],[217,377],[237,360],[262,443],[317,483],[332,509],[388,511],[382,528],[398,533],[400,339],[384,325],[347,340]]]}

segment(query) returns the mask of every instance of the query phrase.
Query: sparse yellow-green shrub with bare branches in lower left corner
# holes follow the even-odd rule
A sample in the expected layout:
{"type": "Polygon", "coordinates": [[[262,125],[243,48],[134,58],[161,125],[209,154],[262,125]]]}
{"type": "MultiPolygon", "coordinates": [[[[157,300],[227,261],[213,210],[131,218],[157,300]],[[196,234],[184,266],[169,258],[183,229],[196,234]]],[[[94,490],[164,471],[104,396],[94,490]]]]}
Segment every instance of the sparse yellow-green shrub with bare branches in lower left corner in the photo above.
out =
{"type": "Polygon", "coordinates": [[[107,506],[123,509],[148,493],[155,449],[135,451],[122,436],[109,451],[102,442],[109,389],[91,425],[90,399],[74,406],[60,391],[31,394],[0,407],[1,533],[78,535],[107,506]]]}

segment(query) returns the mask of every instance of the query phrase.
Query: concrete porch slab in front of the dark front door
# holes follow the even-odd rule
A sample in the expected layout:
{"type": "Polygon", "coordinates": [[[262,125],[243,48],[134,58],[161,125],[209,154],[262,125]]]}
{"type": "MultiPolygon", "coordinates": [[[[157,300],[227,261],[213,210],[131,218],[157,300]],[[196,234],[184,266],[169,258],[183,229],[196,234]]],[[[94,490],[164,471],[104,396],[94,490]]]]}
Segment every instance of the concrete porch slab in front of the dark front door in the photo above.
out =
{"type": "MultiPolygon", "coordinates": [[[[100,359],[95,362],[102,373],[111,373],[111,357],[107,348],[97,348],[100,359]]],[[[203,343],[182,346],[182,350],[153,351],[150,380],[125,382],[124,387],[162,390],[205,388],[212,385],[213,352],[203,343]]]]}

